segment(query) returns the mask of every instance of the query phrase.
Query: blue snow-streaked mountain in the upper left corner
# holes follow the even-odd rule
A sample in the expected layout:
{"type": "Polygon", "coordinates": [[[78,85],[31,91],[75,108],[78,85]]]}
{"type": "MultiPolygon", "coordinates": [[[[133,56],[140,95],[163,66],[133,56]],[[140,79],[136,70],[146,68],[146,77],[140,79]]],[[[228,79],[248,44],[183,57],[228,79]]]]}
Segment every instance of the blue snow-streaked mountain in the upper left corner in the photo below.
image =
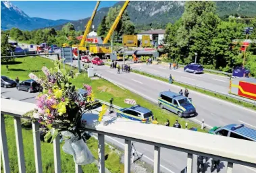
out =
{"type": "Polygon", "coordinates": [[[20,30],[35,30],[58,26],[67,22],[70,22],[70,20],[30,18],[24,11],[12,5],[9,1],[1,1],[1,30],[9,30],[13,27],[20,30]]]}

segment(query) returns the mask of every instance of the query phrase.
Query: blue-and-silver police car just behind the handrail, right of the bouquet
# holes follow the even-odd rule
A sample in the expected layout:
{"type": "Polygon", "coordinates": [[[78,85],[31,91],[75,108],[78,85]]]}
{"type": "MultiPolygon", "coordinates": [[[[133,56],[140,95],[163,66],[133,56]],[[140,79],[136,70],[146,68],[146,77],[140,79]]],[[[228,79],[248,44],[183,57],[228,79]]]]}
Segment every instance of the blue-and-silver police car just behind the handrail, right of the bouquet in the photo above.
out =
{"type": "Polygon", "coordinates": [[[149,123],[154,119],[151,110],[140,105],[132,106],[130,108],[122,108],[118,110],[117,116],[128,118],[130,120],[141,121],[142,123],[149,123]]]}

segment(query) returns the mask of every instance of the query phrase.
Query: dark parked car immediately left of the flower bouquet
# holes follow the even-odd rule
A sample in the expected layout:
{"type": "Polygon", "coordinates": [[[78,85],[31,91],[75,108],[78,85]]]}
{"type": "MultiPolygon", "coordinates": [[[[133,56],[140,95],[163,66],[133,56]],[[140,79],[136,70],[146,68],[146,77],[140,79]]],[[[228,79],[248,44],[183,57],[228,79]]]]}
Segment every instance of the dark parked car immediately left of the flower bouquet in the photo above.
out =
{"type": "Polygon", "coordinates": [[[33,79],[28,79],[26,81],[22,81],[17,85],[17,90],[23,90],[27,92],[42,92],[42,86],[34,81],[33,79]]]}

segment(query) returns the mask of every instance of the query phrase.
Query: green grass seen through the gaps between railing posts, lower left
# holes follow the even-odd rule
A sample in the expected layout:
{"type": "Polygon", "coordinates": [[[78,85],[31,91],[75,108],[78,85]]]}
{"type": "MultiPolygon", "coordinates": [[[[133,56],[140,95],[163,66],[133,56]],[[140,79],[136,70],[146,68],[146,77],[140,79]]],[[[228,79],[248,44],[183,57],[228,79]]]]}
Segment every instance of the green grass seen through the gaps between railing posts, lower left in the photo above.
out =
{"type": "MultiPolygon", "coordinates": [[[[16,150],[15,132],[14,132],[14,118],[12,116],[5,116],[5,128],[7,135],[7,145],[9,151],[9,162],[11,167],[11,172],[18,171],[18,156],[16,150]]],[[[26,172],[34,173],[34,146],[32,139],[32,130],[22,129],[23,145],[24,145],[24,155],[26,163],[26,172]]],[[[75,164],[72,155],[66,154],[62,151],[61,143],[61,171],[62,172],[74,172],[75,164]]],[[[88,147],[91,149],[96,160],[98,159],[98,142],[96,139],[91,137],[87,141],[88,147]]],[[[42,163],[43,172],[54,172],[54,160],[53,160],[53,143],[41,142],[41,153],[42,153],[42,163]]],[[[108,154],[107,160],[105,160],[105,166],[110,172],[124,172],[124,164],[120,164],[120,155],[115,149],[111,149],[108,145],[105,145],[105,155],[108,154]]],[[[83,172],[99,172],[97,165],[95,163],[82,166],[83,172]]],[[[3,171],[3,166],[1,166],[1,171],[3,171]]]]}

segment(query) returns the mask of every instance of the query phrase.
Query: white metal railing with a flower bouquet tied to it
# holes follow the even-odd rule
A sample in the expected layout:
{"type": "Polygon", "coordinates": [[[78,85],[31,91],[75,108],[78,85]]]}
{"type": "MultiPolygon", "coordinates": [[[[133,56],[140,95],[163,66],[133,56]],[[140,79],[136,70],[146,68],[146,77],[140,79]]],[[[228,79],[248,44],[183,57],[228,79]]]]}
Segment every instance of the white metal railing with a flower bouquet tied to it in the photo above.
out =
{"type": "MultiPolygon", "coordinates": [[[[3,115],[8,114],[14,116],[19,172],[25,172],[20,116],[34,108],[36,108],[35,104],[1,98],[1,154],[3,158],[4,172],[11,172],[11,170],[9,167],[10,163],[3,115]]],[[[203,155],[207,158],[216,158],[228,162],[228,173],[232,172],[233,164],[240,164],[243,166],[256,168],[256,143],[253,141],[233,139],[218,135],[209,135],[207,133],[187,131],[161,125],[135,123],[134,121],[126,120],[124,118],[113,118],[110,116],[103,116],[102,122],[97,123],[97,114],[91,114],[90,116],[84,115],[82,118],[85,118],[87,121],[86,128],[88,131],[98,134],[98,168],[99,172],[101,173],[105,172],[105,135],[125,139],[124,172],[126,173],[130,173],[131,141],[137,141],[155,146],[155,173],[159,172],[161,147],[188,153],[186,170],[188,173],[193,172],[193,154],[203,155]]],[[[43,172],[43,168],[38,122],[32,123],[32,131],[36,172],[41,173],[43,172]]],[[[53,148],[55,172],[61,172],[61,158],[58,137],[53,141],[53,148]]],[[[76,165],[75,172],[82,172],[81,166],[76,165]]]]}

